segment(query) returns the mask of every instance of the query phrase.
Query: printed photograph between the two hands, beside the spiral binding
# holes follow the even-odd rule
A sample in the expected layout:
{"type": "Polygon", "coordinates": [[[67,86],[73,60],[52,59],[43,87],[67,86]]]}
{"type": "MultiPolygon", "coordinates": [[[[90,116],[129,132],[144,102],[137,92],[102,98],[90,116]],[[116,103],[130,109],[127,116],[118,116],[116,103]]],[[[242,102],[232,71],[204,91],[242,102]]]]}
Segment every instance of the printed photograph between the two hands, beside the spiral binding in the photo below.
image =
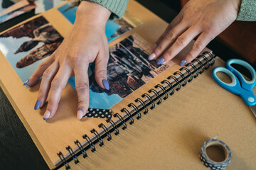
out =
{"type": "MultiPolygon", "coordinates": [[[[107,64],[107,80],[110,90],[102,89],[95,81],[95,64],[90,64],[90,108],[108,109],[132,94],[158,74],[169,68],[169,63],[157,65],[148,61],[151,45],[139,35],[131,35],[110,47],[110,60],[107,64]]],[[[75,89],[75,78],[69,80],[75,89]]]]}

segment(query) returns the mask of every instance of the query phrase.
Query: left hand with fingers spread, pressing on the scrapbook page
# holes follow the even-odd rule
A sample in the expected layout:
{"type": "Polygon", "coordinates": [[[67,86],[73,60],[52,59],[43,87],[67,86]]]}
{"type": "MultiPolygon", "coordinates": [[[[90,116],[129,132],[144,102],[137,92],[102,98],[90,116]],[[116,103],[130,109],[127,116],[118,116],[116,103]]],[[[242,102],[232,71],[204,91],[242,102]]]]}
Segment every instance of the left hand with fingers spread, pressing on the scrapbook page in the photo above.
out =
{"type": "Polygon", "coordinates": [[[53,118],[60,96],[68,79],[75,76],[78,94],[78,119],[87,112],[89,105],[88,65],[95,62],[95,79],[102,88],[109,89],[107,62],[109,59],[105,24],[111,12],[89,1],[78,7],[73,29],[57,50],[45,60],[29,79],[33,86],[43,75],[35,109],[41,108],[48,98],[43,119],[53,118]]]}

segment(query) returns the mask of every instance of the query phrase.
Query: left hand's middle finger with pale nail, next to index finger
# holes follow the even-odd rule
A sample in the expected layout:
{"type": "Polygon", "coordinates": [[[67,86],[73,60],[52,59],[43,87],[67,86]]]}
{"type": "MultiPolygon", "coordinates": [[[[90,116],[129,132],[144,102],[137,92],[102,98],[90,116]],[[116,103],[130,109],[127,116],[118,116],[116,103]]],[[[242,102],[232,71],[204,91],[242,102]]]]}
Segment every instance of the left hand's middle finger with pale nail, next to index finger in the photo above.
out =
{"type": "Polygon", "coordinates": [[[46,113],[43,115],[43,120],[53,118],[55,115],[58,108],[58,103],[60,102],[60,96],[68,83],[70,74],[70,68],[61,67],[61,69],[59,69],[58,73],[55,75],[53,81],[51,81],[50,92],[48,94],[48,105],[46,108],[46,113]]]}

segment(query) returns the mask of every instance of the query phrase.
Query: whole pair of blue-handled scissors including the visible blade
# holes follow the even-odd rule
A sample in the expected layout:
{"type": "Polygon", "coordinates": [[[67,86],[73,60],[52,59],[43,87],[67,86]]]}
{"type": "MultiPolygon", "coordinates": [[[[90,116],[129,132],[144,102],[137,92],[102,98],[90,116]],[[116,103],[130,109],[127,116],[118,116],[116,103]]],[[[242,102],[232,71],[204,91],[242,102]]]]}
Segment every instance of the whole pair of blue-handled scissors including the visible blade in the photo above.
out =
{"type": "Polygon", "coordinates": [[[242,98],[242,101],[244,101],[245,104],[249,106],[250,110],[256,118],[256,97],[252,92],[252,88],[256,85],[255,69],[253,69],[249,63],[239,59],[228,60],[225,64],[225,67],[215,67],[212,73],[213,79],[215,79],[215,81],[227,91],[239,95],[242,98]],[[245,77],[243,77],[242,74],[238,72],[237,69],[231,66],[231,64],[238,64],[248,69],[252,76],[252,80],[247,81],[245,77]],[[225,74],[228,74],[232,82],[228,84],[222,81],[216,75],[218,72],[224,72],[225,74]]]}

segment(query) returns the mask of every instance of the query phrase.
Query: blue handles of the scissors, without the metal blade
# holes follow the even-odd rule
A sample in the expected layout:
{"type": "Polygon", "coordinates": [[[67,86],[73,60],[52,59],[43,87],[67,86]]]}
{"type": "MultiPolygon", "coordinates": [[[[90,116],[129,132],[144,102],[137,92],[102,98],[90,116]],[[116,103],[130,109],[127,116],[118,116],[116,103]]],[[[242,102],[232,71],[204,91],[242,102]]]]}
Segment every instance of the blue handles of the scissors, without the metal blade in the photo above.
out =
{"type": "MultiPolygon", "coordinates": [[[[237,61],[235,61],[235,64],[241,64],[242,63],[242,66],[244,66],[247,69],[249,69],[247,67],[247,65],[245,65],[243,62],[244,61],[238,63],[237,61]]],[[[230,64],[233,64],[233,63],[234,62],[231,61],[231,62],[228,62],[228,64],[226,64],[226,65],[229,65],[230,67],[232,67],[230,64]]],[[[228,67],[228,68],[230,68],[230,67],[228,67]]],[[[242,77],[242,74],[240,74],[240,72],[238,72],[236,69],[235,69],[235,71],[233,73],[233,72],[230,71],[230,69],[227,69],[225,67],[216,67],[215,69],[213,69],[212,75],[213,75],[213,79],[215,79],[215,81],[220,86],[222,86],[224,89],[230,91],[233,94],[239,95],[247,106],[253,106],[253,105],[256,104],[256,97],[255,97],[255,95],[252,92],[252,88],[253,88],[253,86],[255,86],[254,85],[255,84],[255,70],[252,68],[252,70],[249,69],[249,71],[252,74],[252,80],[251,81],[245,80],[245,78],[242,77]],[[225,74],[227,74],[230,77],[232,82],[230,84],[228,84],[228,83],[225,83],[224,81],[222,81],[217,76],[218,72],[224,72],[225,74]],[[238,77],[236,77],[236,75],[238,75],[238,77]],[[242,87],[242,84],[244,84],[245,88],[242,87]],[[245,84],[247,84],[247,85],[245,85],[245,84]]]]}

